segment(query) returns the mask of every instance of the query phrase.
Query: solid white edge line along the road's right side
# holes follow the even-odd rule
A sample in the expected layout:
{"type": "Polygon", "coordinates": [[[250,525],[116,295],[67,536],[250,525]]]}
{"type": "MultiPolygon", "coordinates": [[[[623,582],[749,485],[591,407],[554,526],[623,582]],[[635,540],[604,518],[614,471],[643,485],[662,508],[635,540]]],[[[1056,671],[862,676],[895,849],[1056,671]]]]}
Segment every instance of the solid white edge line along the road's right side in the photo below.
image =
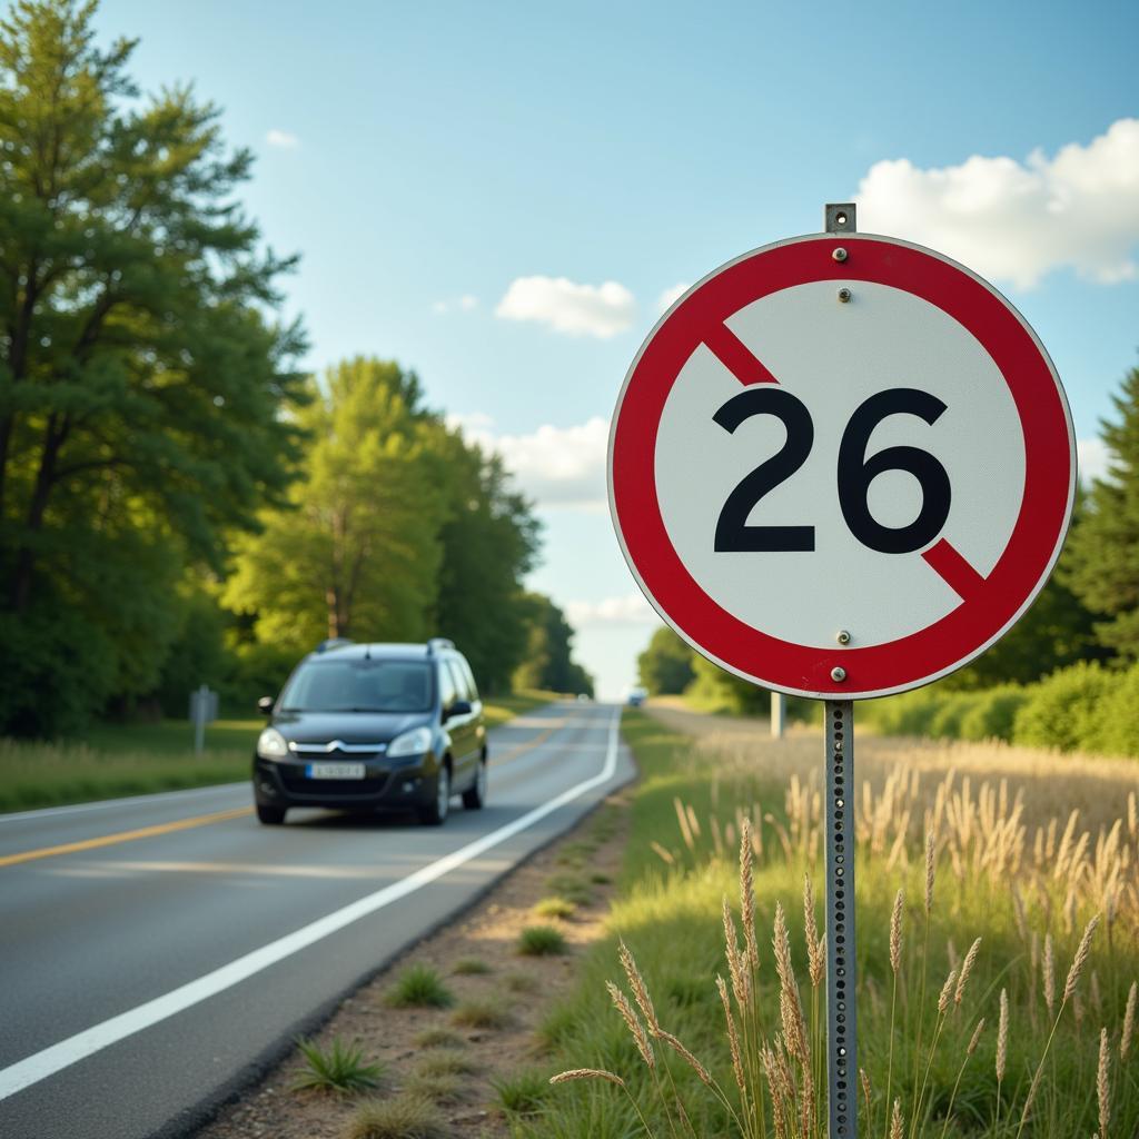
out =
{"type": "Polygon", "coordinates": [[[470,862],[473,859],[478,858],[480,854],[484,854],[500,843],[505,843],[508,838],[513,838],[523,830],[530,829],[535,822],[540,822],[548,814],[558,810],[558,808],[565,806],[595,787],[600,787],[608,782],[617,768],[620,724],[621,710],[617,708],[609,721],[609,737],[606,747],[605,764],[601,771],[591,779],[576,784],[568,790],[564,790],[556,798],[550,800],[550,802],[534,808],[533,811],[528,811],[513,822],[508,822],[505,827],[499,827],[498,830],[492,830],[489,835],[484,835],[482,838],[461,846],[451,854],[416,870],[415,874],[408,875],[407,878],[393,883],[391,886],[385,886],[383,890],[369,894],[367,898],[361,898],[351,906],[345,906],[343,909],[336,910],[327,917],[302,926],[302,928],[294,933],[286,934],[284,937],[279,937],[277,941],[270,942],[261,949],[255,949],[252,953],[246,953],[236,961],[230,961],[229,965],[223,965],[221,968],[214,969],[212,973],[207,973],[196,981],[190,981],[162,997],[156,997],[154,1000],[139,1005],[126,1013],[121,1013],[109,1021],[104,1021],[101,1024],[85,1029],[74,1036],[68,1036],[67,1040],[51,1044],[49,1048],[44,1048],[33,1056],[28,1056],[3,1068],[0,1071],[0,1099],[7,1099],[9,1096],[14,1096],[16,1092],[23,1091],[25,1088],[39,1083],[50,1075],[55,1075],[72,1064],[76,1064],[79,1060],[85,1059],[88,1056],[92,1056],[95,1052],[101,1051],[104,1048],[120,1040],[124,1040],[126,1036],[132,1036],[144,1029],[149,1029],[151,1025],[158,1024],[161,1021],[165,1021],[188,1008],[192,1008],[195,1005],[208,1000],[211,997],[216,997],[218,993],[231,989],[233,985],[254,976],[254,974],[261,973],[263,969],[268,969],[269,966],[276,965],[293,953],[308,949],[310,945],[337,933],[353,921],[359,921],[361,918],[368,917],[368,915],[375,913],[386,906],[391,906],[392,902],[396,902],[401,898],[407,898],[408,894],[421,890],[429,883],[450,874],[451,870],[470,862]]]}

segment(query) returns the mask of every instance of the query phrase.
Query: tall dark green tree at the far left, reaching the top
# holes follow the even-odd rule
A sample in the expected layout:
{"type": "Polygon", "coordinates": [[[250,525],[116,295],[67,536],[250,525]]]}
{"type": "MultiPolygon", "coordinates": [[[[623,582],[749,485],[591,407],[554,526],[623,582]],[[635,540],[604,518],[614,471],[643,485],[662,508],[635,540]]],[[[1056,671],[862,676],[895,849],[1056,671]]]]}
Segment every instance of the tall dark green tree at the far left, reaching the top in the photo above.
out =
{"type": "Polygon", "coordinates": [[[232,195],[219,112],[146,101],[93,2],[0,21],[0,731],[79,726],[145,691],[188,564],[287,484],[300,328],[290,268],[232,195]],[[50,694],[46,698],[44,694],[50,694]]]}

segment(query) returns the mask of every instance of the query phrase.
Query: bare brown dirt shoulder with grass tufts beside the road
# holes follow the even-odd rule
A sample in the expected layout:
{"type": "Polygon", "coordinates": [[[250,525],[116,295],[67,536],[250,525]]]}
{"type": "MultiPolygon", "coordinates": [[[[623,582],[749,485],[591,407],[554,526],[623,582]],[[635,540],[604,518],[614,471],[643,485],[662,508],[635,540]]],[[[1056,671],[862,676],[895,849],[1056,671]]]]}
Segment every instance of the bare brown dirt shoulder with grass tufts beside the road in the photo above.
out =
{"type": "Polygon", "coordinates": [[[194,1132],[194,1139],[339,1139],[363,1101],[386,1100],[423,1087],[417,1080],[433,1066],[433,1059],[445,1064],[456,1054],[464,1062],[459,1066],[472,1071],[436,1079],[432,1097],[450,1133],[456,1139],[508,1136],[494,1083],[542,1066],[536,1029],[574,985],[577,959],[605,933],[624,847],[626,796],[628,792],[609,796],[598,811],[513,870],[452,925],[412,947],[345,998],[314,1039],[326,1049],[337,1038],[359,1042],[367,1060],[384,1065],[378,1089],[343,1096],[293,1091],[303,1068],[300,1054],[293,1051],[236,1103],[221,1108],[213,1122],[194,1132]],[[570,895],[572,913],[535,915],[534,907],[552,895],[570,895]],[[535,925],[556,927],[565,940],[564,952],[521,954],[519,936],[535,925]],[[439,974],[453,995],[451,1007],[390,1007],[385,998],[412,965],[429,966],[439,974]],[[484,972],[464,972],[475,968],[484,972]],[[466,1006],[502,1013],[508,1024],[469,1027],[457,1023],[466,1006]],[[433,1046],[444,1032],[453,1039],[443,1047],[433,1046]]]}

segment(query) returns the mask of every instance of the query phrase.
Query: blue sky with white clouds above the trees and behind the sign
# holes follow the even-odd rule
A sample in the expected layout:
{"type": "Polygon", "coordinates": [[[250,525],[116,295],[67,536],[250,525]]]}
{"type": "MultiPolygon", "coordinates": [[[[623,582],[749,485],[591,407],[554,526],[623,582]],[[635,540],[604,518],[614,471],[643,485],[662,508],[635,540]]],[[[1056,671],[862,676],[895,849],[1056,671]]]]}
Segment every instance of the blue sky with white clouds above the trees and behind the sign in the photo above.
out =
{"type": "Polygon", "coordinates": [[[502,451],[604,695],[655,628],[598,499],[662,294],[858,195],[861,229],[1006,292],[1081,440],[1139,359],[1133,3],[105,0],[98,24],[259,155],[244,199],[302,254],[308,364],[395,358],[502,451]]]}

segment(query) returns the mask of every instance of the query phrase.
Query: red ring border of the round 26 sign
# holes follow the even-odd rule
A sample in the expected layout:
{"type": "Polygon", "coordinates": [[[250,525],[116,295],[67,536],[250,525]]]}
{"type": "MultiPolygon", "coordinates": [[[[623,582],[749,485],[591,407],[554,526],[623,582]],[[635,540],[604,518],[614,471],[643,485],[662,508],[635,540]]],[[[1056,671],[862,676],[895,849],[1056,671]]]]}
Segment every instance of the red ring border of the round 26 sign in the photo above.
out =
{"type": "Polygon", "coordinates": [[[779,243],[715,270],[649,334],[625,378],[609,442],[609,501],[630,568],[681,637],[730,671],[784,691],[862,698],[904,691],[966,664],[1039,592],[1059,555],[1075,487],[1067,401],[1029,325],[995,289],[931,249],[844,233],[779,243]],[[837,262],[833,251],[847,249],[837,262]],[[728,613],[693,579],[665,531],[656,493],[656,435],[680,369],[708,328],[771,293],[811,281],[870,281],[903,289],[957,320],[1003,376],[1024,428],[1025,493],[1003,552],[968,601],[884,645],[831,652],[763,633],[728,613]],[[836,682],[830,671],[846,672],[836,682]]]}

